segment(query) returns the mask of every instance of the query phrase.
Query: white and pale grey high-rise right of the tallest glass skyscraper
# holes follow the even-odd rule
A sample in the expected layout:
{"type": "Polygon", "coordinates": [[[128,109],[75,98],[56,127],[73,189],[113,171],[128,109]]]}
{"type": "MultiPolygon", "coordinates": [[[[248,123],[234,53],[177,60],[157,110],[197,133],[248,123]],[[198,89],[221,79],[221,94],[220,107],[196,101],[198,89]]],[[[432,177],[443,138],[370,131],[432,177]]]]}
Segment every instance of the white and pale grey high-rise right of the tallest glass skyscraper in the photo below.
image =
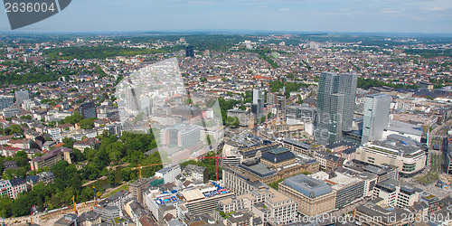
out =
{"type": "Polygon", "coordinates": [[[382,93],[365,98],[362,144],[382,138],[390,118],[391,100],[391,96],[382,93]]]}

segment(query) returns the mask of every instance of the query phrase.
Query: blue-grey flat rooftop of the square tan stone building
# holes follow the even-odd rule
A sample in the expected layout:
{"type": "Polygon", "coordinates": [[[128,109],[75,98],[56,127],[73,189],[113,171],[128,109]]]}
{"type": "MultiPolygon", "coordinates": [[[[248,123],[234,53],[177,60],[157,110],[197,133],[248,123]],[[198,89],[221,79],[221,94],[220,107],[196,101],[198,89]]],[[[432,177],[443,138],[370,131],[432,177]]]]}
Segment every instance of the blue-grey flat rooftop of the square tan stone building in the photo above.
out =
{"type": "Polygon", "coordinates": [[[310,198],[316,198],[332,192],[331,187],[325,184],[324,181],[315,180],[305,174],[288,177],[284,180],[283,184],[310,198]]]}

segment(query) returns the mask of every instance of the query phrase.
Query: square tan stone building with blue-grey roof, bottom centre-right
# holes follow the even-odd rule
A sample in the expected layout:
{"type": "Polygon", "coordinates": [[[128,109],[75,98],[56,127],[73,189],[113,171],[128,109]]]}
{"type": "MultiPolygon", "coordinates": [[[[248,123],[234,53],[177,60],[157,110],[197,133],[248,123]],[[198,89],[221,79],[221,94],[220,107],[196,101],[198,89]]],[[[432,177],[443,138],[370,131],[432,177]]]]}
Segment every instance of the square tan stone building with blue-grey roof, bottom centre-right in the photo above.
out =
{"type": "Polygon", "coordinates": [[[298,211],[303,215],[316,216],[335,208],[336,193],[331,187],[305,174],[286,178],[278,188],[279,192],[297,202],[298,211]]]}

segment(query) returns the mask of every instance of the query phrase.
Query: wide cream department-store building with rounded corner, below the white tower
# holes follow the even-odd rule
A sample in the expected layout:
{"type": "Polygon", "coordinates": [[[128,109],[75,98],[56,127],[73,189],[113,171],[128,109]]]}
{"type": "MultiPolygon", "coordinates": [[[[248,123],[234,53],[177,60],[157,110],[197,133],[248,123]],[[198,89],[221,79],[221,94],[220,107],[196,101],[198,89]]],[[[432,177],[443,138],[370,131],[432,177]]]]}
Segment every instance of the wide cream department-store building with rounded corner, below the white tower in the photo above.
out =
{"type": "Polygon", "coordinates": [[[407,145],[414,141],[391,135],[388,139],[367,142],[356,150],[356,159],[370,165],[395,165],[402,177],[410,177],[421,172],[427,164],[427,155],[419,146],[407,145]]]}

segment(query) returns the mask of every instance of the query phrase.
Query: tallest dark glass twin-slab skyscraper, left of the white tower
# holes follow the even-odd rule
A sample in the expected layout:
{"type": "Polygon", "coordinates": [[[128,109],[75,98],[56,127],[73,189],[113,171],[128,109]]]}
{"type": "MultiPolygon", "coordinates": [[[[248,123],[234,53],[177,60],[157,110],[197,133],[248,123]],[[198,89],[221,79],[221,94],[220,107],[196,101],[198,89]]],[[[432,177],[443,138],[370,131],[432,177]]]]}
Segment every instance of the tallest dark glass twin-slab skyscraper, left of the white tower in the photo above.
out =
{"type": "Polygon", "coordinates": [[[319,79],[315,141],[330,144],[352,130],[357,76],[323,72],[319,79]]]}

